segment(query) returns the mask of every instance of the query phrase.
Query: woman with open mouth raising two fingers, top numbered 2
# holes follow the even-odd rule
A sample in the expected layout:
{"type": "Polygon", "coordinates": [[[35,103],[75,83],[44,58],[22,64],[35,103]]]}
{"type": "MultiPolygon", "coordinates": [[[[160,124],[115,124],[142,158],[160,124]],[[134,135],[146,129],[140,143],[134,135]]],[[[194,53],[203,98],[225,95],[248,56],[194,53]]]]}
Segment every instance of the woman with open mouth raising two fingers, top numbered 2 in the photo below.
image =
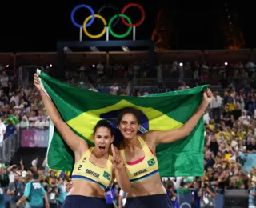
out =
{"type": "Polygon", "coordinates": [[[123,166],[122,158],[115,154],[114,146],[112,146],[113,156],[109,154],[110,144],[114,141],[110,123],[101,120],[96,124],[93,135],[95,146],[90,147],[62,120],[54,103],[42,90],[38,74],[34,74],[34,85],[40,91],[42,102],[46,106],[51,121],[54,122],[54,126],[74,152],[73,187],[62,208],[105,208],[105,190],[111,182],[114,182],[114,178],[117,179],[123,190],[130,190],[130,181],[123,166]]]}

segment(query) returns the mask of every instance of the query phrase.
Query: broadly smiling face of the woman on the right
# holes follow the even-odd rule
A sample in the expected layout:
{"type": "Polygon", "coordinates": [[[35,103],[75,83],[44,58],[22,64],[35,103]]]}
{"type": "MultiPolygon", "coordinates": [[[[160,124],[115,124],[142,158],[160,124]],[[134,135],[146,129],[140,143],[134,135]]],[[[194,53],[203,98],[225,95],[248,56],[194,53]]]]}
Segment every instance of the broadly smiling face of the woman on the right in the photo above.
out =
{"type": "Polygon", "coordinates": [[[119,130],[124,139],[132,139],[137,136],[139,123],[134,114],[123,114],[119,122],[119,130]]]}

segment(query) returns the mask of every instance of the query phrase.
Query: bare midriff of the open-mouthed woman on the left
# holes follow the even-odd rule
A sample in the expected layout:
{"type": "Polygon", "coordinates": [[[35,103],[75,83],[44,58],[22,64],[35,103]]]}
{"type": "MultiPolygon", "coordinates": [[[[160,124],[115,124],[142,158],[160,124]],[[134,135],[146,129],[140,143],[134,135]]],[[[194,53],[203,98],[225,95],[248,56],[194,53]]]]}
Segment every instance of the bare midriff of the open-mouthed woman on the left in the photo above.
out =
{"type": "Polygon", "coordinates": [[[105,198],[105,191],[94,182],[86,180],[73,180],[72,182],[73,186],[68,195],[105,198]]]}

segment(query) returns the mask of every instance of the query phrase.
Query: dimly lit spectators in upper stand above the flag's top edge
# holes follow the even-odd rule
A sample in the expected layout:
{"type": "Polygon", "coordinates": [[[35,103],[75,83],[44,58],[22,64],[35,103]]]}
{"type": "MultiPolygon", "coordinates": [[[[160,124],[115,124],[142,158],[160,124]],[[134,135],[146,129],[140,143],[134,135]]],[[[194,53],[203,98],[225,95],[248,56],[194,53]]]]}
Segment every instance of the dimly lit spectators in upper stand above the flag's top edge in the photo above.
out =
{"type": "Polygon", "coordinates": [[[194,87],[202,83],[221,84],[224,88],[233,82],[238,88],[243,88],[247,83],[254,84],[256,66],[253,62],[173,62],[165,64],[158,62],[155,70],[148,70],[148,63],[145,61],[134,62],[129,65],[109,64],[98,62],[95,65],[84,65],[77,70],[66,70],[66,80],[71,84],[92,83],[94,86],[101,86],[104,83],[118,82],[117,79],[133,82],[136,86],[144,79],[145,85],[152,83],[145,82],[155,78],[156,84],[164,85],[172,90],[174,82],[185,81],[189,86],[194,87]],[[115,81],[114,81],[115,80],[115,81]],[[171,83],[172,82],[172,83],[171,83]]]}

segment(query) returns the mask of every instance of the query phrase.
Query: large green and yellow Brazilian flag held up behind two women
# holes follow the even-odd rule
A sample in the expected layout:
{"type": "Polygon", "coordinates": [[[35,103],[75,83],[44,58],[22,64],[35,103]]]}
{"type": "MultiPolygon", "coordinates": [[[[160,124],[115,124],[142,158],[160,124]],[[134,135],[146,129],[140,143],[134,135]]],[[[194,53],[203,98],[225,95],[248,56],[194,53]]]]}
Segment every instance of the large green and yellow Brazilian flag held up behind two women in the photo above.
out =
{"type": "MultiPolygon", "coordinates": [[[[149,130],[173,130],[181,127],[198,109],[202,102],[202,90],[207,88],[207,86],[198,86],[190,90],[138,98],[83,90],[59,82],[43,73],[39,78],[44,90],[57,106],[62,119],[91,146],[94,145],[92,140],[94,126],[100,119],[106,119],[112,124],[115,142],[122,140],[117,116],[125,107],[139,110],[142,121],[140,134],[149,130]]],[[[171,144],[158,144],[156,153],[161,176],[202,176],[203,146],[204,126],[201,118],[188,137],[171,144]]],[[[52,124],[47,158],[48,165],[52,169],[67,171],[73,169],[74,154],[52,124]]],[[[149,164],[153,163],[154,161],[149,161],[149,164]]]]}

